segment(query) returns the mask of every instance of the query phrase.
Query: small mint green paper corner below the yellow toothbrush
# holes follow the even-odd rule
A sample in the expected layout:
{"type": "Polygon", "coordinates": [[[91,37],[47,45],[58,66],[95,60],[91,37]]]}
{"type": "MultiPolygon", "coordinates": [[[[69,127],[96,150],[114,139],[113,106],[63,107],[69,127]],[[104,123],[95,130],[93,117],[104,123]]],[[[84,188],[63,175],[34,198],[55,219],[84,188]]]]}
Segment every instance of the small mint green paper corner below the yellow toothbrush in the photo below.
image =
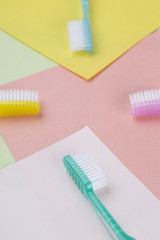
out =
{"type": "Polygon", "coordinates": [[[6,143],[0,135],[0,169],[14,163],[15,160],[10,153],[6,143]]]}

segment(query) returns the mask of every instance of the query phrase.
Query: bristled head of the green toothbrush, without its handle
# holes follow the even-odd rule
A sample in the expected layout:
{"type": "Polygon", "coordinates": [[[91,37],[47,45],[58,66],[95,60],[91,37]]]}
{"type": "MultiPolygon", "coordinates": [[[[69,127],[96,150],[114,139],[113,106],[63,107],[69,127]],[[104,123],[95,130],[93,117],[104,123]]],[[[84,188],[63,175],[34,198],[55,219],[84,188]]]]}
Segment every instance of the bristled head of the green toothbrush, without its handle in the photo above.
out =
{"type": "Polygon", "coordinates": [[[107,178],[99,166],[87,154],[64,157],[63,163],[81,192],[87,196],[88,191],[107,186],[107,178]]]}

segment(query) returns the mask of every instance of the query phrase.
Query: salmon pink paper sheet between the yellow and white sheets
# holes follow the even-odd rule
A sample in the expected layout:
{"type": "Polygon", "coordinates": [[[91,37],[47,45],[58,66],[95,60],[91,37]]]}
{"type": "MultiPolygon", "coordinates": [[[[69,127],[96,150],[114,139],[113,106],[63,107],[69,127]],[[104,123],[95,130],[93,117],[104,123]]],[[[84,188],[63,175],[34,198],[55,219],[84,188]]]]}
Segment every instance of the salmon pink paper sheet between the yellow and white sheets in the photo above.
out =
{"type": "Polygon", "coordinates": [[[134,119],[129,94],[160,87],[160,32],[156,32],[96,76],[80,81],[55,67],[5,85],[39,91],[37,117],[0,119],[0,132],[16,160],[88,125],[160,199],[160,118],[134,119]]]}

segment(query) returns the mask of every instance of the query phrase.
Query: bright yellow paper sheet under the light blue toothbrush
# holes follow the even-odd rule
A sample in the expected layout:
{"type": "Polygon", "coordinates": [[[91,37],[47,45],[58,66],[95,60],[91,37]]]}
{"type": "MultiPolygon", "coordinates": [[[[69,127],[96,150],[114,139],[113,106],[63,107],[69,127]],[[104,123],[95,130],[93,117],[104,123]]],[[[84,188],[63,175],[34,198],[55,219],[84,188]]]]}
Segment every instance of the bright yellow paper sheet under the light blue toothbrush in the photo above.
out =
{"type": "Polygon", "coordinates": [[[0,27],[89,79],[160,26],[160,0],[89,0],[94,51],[69,51],[67,22],[82,19],[81,0],[1,0],[0,27]]]}

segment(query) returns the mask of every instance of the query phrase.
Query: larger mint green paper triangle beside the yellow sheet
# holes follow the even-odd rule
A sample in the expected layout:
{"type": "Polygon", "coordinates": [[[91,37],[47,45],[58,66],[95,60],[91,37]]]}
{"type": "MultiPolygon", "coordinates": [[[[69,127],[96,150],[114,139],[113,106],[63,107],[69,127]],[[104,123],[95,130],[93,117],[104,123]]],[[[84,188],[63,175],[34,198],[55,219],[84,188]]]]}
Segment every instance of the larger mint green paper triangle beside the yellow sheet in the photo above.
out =
{"type": "Polygon", "coordinates": [[[0,85],[57,64],[0,30],[0,85]]]}

